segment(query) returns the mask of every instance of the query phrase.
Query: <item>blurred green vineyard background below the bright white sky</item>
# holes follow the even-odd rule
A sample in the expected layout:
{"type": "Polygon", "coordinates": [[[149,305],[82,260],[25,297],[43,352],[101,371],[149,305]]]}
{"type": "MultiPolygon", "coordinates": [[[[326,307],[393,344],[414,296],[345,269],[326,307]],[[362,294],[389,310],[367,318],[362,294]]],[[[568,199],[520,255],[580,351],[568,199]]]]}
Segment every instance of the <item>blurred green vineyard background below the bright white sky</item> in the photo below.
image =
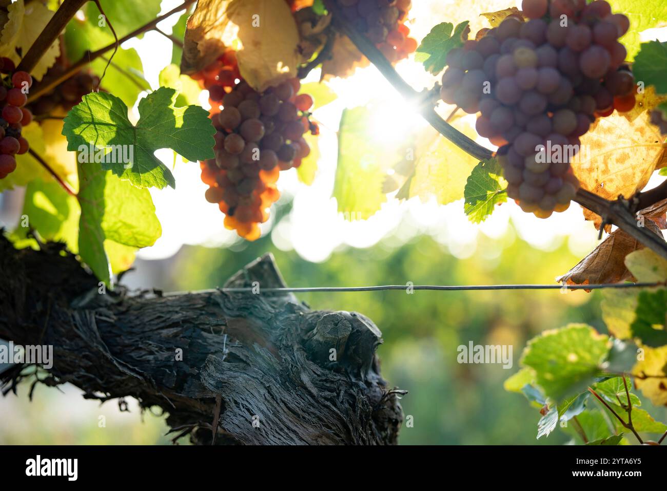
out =
{"type": "MultiPolygon", "coordinates": [[[[137,261],[131,276],[152,278],[165,291],[212,288],[243,265],[270,251],[288,285],[448,285],[551,283],[578,258],[565,242],[551,252],[534,249],[510,226],[498,238],[478,236],[476,252],[458,259],[433,238],[420,235],[396,245],[392,236],[369,249],[344,248],[324,263],[275,249],[270,234],[228,249],[185,246],[164,261],[137,261]]],[[[299,298],[313,309],[359,311],[384,334],[379,354],[392,386],[410,391],[402,400],[413,428],[403,428],[402,444],[563,444],[560,431],[536,440],[539,413],[522,395],[504,391],[503,381],[518,369],[526,340],[568,322],[600,320],[599,296],[582,291],[404,291],[309,293],[299,298]],[[459,364],[456,347],[513,346],[514,366],[459,364]]],[[[163,418],[141,414],[135,401],[119,412],[117,401],[87,401],[69,385],[63,390],[38,385],[30,402],[29,383],[19,397],[0,398],[0,444],[167,444],[163,418]],[[99,417],[105,416],[105,428],[99,417]]],[[[660,418],[660,414],[654,414],[660,418]]],[[[185,443],[185,441],[183,441],[185,443]]]]}

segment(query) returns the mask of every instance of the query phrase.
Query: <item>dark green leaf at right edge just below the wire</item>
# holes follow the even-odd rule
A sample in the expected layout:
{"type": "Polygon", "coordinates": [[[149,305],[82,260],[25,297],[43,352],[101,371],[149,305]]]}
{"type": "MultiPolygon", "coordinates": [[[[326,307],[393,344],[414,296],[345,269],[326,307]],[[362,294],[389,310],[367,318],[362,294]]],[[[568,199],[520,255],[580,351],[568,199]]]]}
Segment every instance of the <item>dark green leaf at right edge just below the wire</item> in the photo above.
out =
{"type": "Polygon", "coordinates": [[[667,345],[667,289],[640,291],[630,330],[647,346],[667,345]]]}

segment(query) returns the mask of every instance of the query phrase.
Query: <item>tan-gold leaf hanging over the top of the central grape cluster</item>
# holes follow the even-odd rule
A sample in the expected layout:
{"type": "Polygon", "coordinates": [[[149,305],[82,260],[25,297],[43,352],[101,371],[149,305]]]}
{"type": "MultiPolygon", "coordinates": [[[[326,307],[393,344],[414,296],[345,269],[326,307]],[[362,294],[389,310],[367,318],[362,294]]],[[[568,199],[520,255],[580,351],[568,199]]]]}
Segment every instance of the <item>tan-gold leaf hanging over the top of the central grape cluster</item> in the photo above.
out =
{"type": "Polygon", "coordinates": [[[187,20],[181,72],[199,71],[225,46],[233,46],[241,76],[263,92],[296,76],[298,43],[297,26],[284,1],[199,0],[187,20]]]}

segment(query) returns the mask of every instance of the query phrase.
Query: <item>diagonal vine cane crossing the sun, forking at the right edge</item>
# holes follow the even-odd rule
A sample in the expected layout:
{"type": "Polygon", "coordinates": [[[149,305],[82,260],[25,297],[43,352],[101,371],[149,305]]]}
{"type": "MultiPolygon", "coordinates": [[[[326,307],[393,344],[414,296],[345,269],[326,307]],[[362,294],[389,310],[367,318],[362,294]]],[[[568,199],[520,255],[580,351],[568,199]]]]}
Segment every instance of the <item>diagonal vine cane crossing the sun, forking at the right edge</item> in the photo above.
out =
{"type": "MultiPolygon", "coordinates": [[[[354,25],[346,21],[340,8],[334,3],[327,3],[327,8],[333,13],[333,23],[342,33],[350,38],[350,41],[366,56],[373,65],[382,73],[392,86],[406,100],[416,102],[420,108],[420,113],[426,121],[433,126],[442,136],[450,140],[456,146],[464,150],[478,160],[488,160],[494,156],[494,152],[485,148],[466,135],[462,134],[456,128],[444,121],[434,108],[428,107],[425,103],[424,95],[414,90],[392,66],[392,63],[382,54],[382,52],[359,31],[354,25]]],[[[427,93],[427,96],[429,94],[427,93]]],[[[606,200],[597,194],[580,188],[574,198],[574,201],[588,208],[592,212],[602,216],[604,223],[610,223],[618,226],[627,234],[636,238],[655,253],[667,259],[667,242],[660,236],[654,234],[646,227],[638,226],[638,220],[634,212],[642,210],[664,198],[667,198],[667,183],[663,183],[654,190],[639,193],[630,200],[619,198],[618,200],[606,200]]],[[[602,230],[602,226],[600,228],[602,230]]],[[[600,232],[602,233],[602,232],[600,232]]]]}

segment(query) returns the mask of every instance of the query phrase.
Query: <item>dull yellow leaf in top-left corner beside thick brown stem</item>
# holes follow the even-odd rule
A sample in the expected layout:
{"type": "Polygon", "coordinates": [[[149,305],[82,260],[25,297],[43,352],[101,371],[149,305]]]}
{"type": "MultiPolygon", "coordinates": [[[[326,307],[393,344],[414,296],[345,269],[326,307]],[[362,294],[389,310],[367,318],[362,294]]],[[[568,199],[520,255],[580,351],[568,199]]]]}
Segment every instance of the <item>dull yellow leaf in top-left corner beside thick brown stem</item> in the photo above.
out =
{"type": "MultiPolygon", "coordinates": [[[[7,7],[7,22],[0,33],[0,56],[6,56],[18,64],[21,53],[27,53],[37,36],[44,30],[53,17],[53,11],[47,9],[41,2],[30,2],[25,5],[23,0],[17,0],[7,7]]],[[[60,55],[60,44],[54,41],[49,49],[44,51],[39,62],[31,71],[31,75],[41,80],[47,69],[55,63],[60,55]]]]}

